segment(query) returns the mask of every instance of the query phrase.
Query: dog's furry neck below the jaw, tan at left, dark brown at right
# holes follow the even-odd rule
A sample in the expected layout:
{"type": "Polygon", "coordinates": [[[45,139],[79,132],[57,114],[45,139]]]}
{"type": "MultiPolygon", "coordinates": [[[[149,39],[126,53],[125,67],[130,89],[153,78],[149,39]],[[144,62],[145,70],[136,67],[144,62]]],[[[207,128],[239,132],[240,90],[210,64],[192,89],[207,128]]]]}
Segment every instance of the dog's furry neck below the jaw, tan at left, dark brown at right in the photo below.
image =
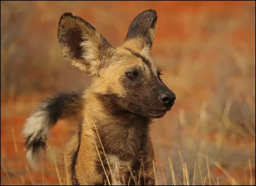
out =
{"type": "Polygon", "coordinates": [[[148,143],[151,119],[120,109],[113,97],[87,94],[85,97],[84,123],[95,126],[107,154],[129,159],[140,154],[148,143]]]}

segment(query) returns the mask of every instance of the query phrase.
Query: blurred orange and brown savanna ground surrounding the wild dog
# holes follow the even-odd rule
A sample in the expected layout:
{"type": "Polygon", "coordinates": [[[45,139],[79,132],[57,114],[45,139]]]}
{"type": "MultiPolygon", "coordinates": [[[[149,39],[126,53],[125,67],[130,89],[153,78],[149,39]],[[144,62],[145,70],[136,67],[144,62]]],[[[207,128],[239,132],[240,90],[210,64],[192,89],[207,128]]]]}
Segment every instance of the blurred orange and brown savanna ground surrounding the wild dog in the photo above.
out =
{"type": "MultiPolygon", "coordinates": [[[[61,14],[84,18],[117,46],[149,8],[158,13],[152,55],[177,95],[151,126],[157,184],[255,185],[254,1],[1,1],[1,185],[59,183],[54,161],[31,169],[21,131],[47,96],[90,83],[61,54],[61,14]]],[[[52,129],[50,157],[75,124],[52,129]]]]}

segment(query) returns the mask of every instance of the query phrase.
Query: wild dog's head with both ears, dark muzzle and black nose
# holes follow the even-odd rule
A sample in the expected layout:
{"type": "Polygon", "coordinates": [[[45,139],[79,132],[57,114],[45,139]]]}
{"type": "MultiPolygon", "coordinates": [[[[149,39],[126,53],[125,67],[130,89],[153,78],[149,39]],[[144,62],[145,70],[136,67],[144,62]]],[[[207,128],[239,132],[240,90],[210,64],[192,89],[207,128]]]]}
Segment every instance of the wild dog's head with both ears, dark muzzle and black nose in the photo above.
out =
{"type": "Polygon", "coordinates": [[[132,20],[125,42],[114,48],[83,18],[64,13],[58,39],[64,57],[93,76],[92,90],[115,108],[144,117],[163,117],[175,94],[162,82],[150,58],[157,13],[143,11],[132,20]]]}

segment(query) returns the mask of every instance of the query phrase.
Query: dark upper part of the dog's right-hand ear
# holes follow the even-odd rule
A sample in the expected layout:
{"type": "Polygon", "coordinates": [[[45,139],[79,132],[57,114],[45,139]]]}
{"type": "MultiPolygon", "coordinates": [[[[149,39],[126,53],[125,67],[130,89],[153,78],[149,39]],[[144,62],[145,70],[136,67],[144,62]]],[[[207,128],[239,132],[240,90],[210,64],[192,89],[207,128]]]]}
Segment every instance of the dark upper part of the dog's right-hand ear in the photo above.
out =
{"type": "Polygon", "coordinates": [[[137,15],[129,26],[126,39],[147,37],[148,29],[156,26],[157,13],[155,10],[146,10],[137,15]]]}

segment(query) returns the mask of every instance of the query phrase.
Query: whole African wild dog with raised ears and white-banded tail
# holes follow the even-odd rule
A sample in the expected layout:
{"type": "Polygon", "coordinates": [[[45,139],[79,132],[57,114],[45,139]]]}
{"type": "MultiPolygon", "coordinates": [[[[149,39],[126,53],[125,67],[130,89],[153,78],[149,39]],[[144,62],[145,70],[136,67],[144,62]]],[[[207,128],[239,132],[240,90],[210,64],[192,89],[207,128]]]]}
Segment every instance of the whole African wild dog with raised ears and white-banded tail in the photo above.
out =
{"type": "Polygon", "coordinates": [[[68,142],[68,185],[154,185],[154,151],[149,125],[175,101],[150,58],[157,13],[147,10],[132,20],[125,42],[114,48],[83,18],[64,13],[58,41],[64,57],[92,76],[82,95],[61,94],[38,106],[23,134],[29,162],[36,162],[51,127],[80,115],[76,135],[68,142]]]}

